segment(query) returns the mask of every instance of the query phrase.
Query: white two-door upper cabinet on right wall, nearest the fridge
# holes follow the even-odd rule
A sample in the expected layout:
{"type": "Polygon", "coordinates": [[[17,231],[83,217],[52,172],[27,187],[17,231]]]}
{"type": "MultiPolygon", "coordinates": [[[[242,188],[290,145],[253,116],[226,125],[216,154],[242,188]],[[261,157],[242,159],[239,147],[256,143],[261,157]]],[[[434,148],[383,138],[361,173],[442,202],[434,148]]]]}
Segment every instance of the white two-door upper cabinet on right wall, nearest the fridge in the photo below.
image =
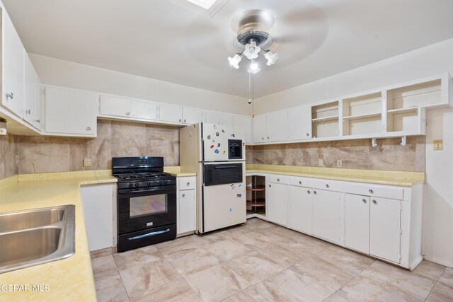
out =
{"type": "Polygon", "coordinates": [[[253,118],[253,143],[286,141],[287,139],[287,110],[256,115],[253,118]]]}

